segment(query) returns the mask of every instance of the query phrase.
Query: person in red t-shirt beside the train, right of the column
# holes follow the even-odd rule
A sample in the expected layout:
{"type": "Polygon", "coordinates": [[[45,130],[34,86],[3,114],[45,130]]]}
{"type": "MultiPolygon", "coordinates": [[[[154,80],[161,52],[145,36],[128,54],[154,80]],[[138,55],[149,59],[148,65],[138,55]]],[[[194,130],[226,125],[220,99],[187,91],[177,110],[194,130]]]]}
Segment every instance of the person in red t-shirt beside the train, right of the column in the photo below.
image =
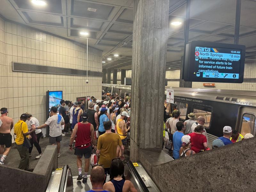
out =
{"type": "Polygon", "coordinates": [[[209,150],[207,145],[207,139],[202,134],[204,131],[204,127],[202,125],[197,125],[195,127],[195,132],[189,133],[190,142],[191,142],[191,150],[199,153],[200,150],[209,150]]]}

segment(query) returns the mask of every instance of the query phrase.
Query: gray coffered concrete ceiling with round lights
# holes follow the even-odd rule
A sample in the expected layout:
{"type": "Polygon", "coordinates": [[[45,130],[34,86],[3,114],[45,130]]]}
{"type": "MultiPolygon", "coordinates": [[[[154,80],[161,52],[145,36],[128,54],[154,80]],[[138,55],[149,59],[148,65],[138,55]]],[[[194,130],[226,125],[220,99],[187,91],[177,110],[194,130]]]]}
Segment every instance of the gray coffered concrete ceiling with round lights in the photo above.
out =
{"type": "MultiPolygon", "coordinates": [[[[0,14],[21,24],[103,50],[103,68],[131,69],[133,0],[1,0],[0,14]],[[114,56],[118,54],[118,56],[114,56]],[[111,60],[107,60],[111,58],[111,60]]],[[[239,44],[246,45],[246,61],[256,60],[256,1],[242,0],[239,44]]],[[[189,41],[234,42],[236,0],[191,0],[189,41]]],[[[184,52],[186,0],[170,0],[166,70],[180,68],[184,52]]]]}

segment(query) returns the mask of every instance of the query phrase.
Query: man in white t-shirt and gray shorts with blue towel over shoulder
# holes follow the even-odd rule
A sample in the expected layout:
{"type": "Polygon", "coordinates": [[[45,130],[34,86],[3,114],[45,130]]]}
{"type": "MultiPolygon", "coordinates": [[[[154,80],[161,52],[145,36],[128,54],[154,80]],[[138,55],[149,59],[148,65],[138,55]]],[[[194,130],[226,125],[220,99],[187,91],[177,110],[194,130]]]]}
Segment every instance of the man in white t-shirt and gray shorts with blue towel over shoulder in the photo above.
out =
{"type": "Polygon", "coordinates": [[[51,108],[51,114],[50,117],[47,119],[47,121],[37,127],[37,129],[42,129],[49,125],[50,128],[50,136],[49,136],[49,141],[52,145],[57,144],[57,157],[60,156],[60,141],[62,140],[62,131],[61,131],[61,125],[64,125],[64,119],[61,115],[57,115],[57,107],[52,107],[51,108]]]}

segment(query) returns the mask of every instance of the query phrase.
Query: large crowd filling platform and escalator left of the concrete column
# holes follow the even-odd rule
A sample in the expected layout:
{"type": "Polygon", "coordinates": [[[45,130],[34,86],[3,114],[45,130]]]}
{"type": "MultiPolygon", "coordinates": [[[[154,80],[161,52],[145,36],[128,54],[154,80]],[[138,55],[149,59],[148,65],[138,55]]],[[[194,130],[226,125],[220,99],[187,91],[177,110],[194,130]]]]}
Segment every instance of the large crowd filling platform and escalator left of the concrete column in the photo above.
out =
{"type": "Polygon", "coordinates": [[[122,98],[118,94],[111,95],[105,92],[102,93],[101,100],[92,96],[88,100],[87,108],[84,100],[74,103],[69,100],[60,100],[60,107],[53,106],[49,118],[42,125],[39,125],[39,121],[30,113],[22,114],[20,120],[13,125],[12,118],[7,116],[8,109],[1,108],[0,164],[4,164],[4,160],[10,152],[12,145],[10,133],[14,126],[15,143],[20,154],[19,169],[33,171],[29,168],[31,151],[35,146],[38,151],[35,158],[39,159],[42,156],[39,145],[42,136],[41,129],[49,126],[49,143],[57,145],[57,157],[60,157],[62,137],[71,133],[69,150],[75,151],[78,169],[77,180],[82,180],[83,183],[87,182],[90,158],[92,153],[95,153],[98,159],[97,164],[100,166],[92,169],[90,179],[93,186],[97,186],[99,181],[103,181],[99,189],[136,191],[132,183],[124,179],[123,162],[121,161],[124,160],[124,149],[129,148],[130,100],[128,94],[122,98]],[[82,173],[83,157],[84,174],[82,173]],[[94,169],[98,173],[104,172],[104,176],[99,177],[98,175],[98,178],[94,178],[94,169]],[[111,179],[106,183],[107,174],[110,174],[111,179]]]}

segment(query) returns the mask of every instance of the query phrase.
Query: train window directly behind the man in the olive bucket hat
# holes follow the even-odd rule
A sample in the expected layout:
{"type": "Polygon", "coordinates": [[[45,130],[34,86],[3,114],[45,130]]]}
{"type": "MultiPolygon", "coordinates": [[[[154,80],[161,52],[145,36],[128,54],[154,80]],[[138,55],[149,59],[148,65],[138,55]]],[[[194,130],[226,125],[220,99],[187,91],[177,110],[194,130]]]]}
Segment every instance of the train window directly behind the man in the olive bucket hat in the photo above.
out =
{"type": "Polygon", "coordinates": [[[212,118],[212,108],[201,105],[193,105],[193,113],[195,113],[196,118],[203,116],[205,119],[204,126],[209,128],[212,118]]]}

